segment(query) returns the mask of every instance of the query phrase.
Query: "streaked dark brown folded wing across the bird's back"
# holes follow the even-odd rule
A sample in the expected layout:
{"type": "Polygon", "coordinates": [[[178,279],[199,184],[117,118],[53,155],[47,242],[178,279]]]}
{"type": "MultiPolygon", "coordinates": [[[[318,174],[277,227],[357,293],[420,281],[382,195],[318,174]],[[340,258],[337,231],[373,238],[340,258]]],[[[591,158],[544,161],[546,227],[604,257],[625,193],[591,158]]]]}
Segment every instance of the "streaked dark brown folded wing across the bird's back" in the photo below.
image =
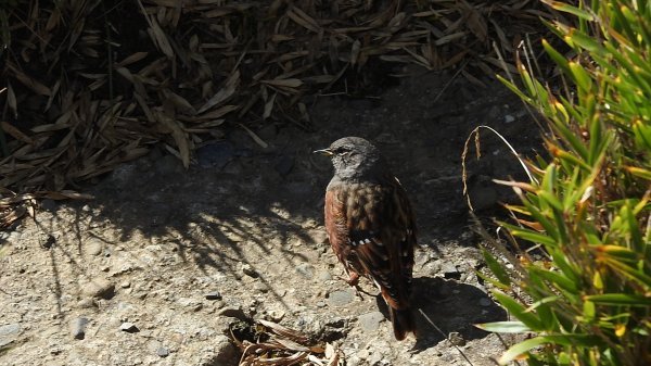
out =
{"type": "Polygon", "coordinates": [[[390,306],[408,306],[416,247],[411,204],[397,179],[359,186],[344,202],[348,244],[363,274],[381,288],[390,306]]]}

